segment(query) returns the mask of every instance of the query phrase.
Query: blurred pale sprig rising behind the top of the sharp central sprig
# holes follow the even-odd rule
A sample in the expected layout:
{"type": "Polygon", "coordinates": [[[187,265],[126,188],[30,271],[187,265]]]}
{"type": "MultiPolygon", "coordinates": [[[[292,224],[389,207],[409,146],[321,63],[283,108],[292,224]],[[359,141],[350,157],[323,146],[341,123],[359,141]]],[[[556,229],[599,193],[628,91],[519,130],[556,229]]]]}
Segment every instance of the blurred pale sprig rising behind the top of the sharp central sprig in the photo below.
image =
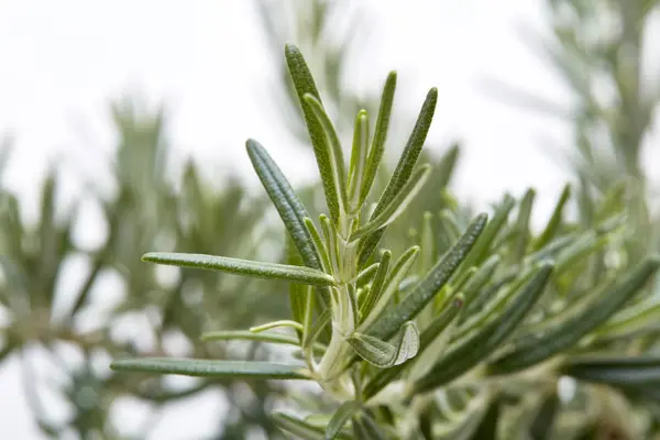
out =
{"type": "MultiPolygon", "coordinates": [[[[345,87],[350,85],[345,78],[354,77],[354,75],[349,76],[349,70],[354,73],[356,68],[364,67],[359,61],[365,59],[371,48],[370,44],[376,44],[369,37],[372,24],[369,14],[364,13],[361,7],[344,0],[296,0],[285,7],[277,1],[256,0],[256,4],[264,40],[271,53],[275,55],[278,87],[270,87],[268,90],[276,98],[278,114],[283,117],[282,123],[304,142],[304,146],[310,146],[296,86],[290,79],[286,61],[279,56],[280,47],[286,42],[294,41],[301,52],[307,54],[306,62],[315,73],[316,87],[323,96],[323,108],[330,116],[334,116],[333,123],[338,138],[342,142],[344,140],[350,142],[354,129],[353,116],[362,109],[366,109],[370,113],[377,112],[381,98],[378,91],[356,92],[345,87]]],[[[402,117],[405,121],[399,121],[400,125],[413,124],[414,120],[408,120],[407,114],[402,117]]],[[[398,135],[396,122],[392,120],[389,139],[392,141],[394,138],[394,141],[398,142],[399,138],[403,140],[405,138],[398,135]]],[[[447,148],[440,157],[436,157],[429,148],[420,152],[419,161],[432,165],[429,180],[432,180],[433,185],[424,186],[409,208],[400,213],[400,219],[389,226],[391,233],[383,237],[384,248],[394,253],[405,252],[409,245],[408,235],[419,229],[425,211],[437,212],[448,205],[459,207],[451,195],[444,193],[444,189],[449,188],[459,156],[460,150],[457,143],[447,148]],[[442,197],[438,197],[440,191],[443,193],[442,197]]],[[[396,151],[384,153],[383,163],[378,166],[373,183],[375,194],[385,190],[393,172],[391,169],[393,158],[396,158],[396,151]]],[[[322,204],[322,188],[317,182],[298,188],[298,195],[310,217],[317,217],[326,209],[322,204]]],[[[461,205],[461,210],[465,211],[462,215],[471,213],[464,205],[461,205]]],[[[437,227],[441,227],[436,220],[433,222],[437,227]]]]}

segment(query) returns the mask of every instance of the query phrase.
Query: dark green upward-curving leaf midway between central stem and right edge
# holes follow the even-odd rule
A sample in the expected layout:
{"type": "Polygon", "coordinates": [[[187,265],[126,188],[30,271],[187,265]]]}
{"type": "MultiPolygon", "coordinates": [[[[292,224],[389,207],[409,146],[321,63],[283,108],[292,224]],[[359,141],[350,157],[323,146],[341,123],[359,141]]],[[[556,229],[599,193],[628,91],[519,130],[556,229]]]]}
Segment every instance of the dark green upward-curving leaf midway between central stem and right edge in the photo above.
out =
{"type": "Polygon", "coordinates": [[[541,264],[499,315],[452,343],[433,369],[413,384],[411,393],[425,393],[442,386],[463,375],[497,350],[537,304],[550,279],[552,267],[551,263],[541,264]]]}

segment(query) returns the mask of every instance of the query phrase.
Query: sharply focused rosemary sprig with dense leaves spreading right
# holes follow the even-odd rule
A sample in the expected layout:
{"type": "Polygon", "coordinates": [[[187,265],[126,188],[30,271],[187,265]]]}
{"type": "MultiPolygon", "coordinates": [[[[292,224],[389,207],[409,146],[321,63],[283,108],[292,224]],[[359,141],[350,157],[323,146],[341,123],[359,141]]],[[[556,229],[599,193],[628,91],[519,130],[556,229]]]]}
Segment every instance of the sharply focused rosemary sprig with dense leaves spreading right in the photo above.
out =
{"type": "Polygon", "coordinates": [[[202,339],[293,345],[290,362],[132,358],[114,361],[112,369],[316,382],[323,396],[317,405],[306,399],[301,408],[311,415],[272,416],[284,431],[309,439],[642,438],[652,432],[658,413],[650,404],[636,413],[644,417],[619,414],[620,424],[614,418],[610,426],[592,424],[594,410],[619,410],[613,395],[644,402],[658,396],[660,358],[647,341],[660,312],[651,283],[660,258],[630,258],[624,243],[636,231],[619,194],[594,201],[593,224],[585,227],[564,219],[571,199],[566,186],[541,233],[529,224],[534,189],[520,200],[505,196],[490,220],[486,213],[465,218],[446,204],[440,212],[424,215],[418,233],[399,239],[414,243],[395,256],[380,243],[431,174],[429,165],[417,162],[437,90],[429,91],[376,198],[372,189],[396,74],[385,81],[373,132],[365,110],[355,116],[346,166],[301,53],[287,45],[285,59],[328,213],[315,222],[266,150],[249,140],[248,154],[288,232],[288,264],[201,253],[156,252],[143,260],[289,282],[292,319],[202,339]],[[559,394],[565,377],[581,384],[569,398],[559,394]],[[603,388],[616,393],[603,398],[603,388]]]}

